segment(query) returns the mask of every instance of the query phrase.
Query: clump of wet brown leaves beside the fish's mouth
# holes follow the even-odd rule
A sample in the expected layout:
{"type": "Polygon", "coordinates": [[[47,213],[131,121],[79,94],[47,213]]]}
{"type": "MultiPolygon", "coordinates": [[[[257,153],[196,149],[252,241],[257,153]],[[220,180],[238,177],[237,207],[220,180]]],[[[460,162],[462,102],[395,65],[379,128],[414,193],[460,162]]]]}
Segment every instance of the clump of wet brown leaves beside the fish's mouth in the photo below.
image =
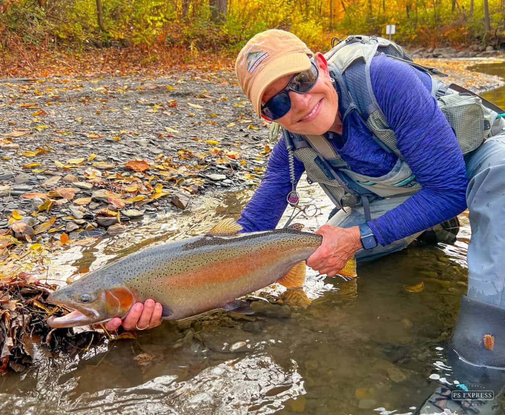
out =
{"type": "Polygon", "coordinates": [[[68,313],[47,302],[47,295],[56,288],[24,272],[0,279],[0,374],[23,371],[40,353],[75,354],[104,340],[96,331],[74,334],[73,329],[47,326],[49,316],[68,313]]]}

